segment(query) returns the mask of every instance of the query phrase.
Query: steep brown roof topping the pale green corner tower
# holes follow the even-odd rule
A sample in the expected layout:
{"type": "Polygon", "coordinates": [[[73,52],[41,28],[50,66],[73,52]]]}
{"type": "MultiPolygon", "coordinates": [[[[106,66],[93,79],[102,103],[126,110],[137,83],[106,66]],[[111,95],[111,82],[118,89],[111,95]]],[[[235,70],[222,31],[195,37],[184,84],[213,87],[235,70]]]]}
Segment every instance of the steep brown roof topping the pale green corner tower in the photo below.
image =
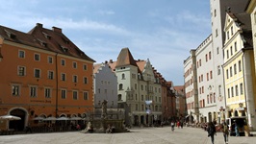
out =
{"type": "Polygon", "coordinates": [[[118,66],[125,66],[125,65],[137,66],[136,61],[134,60],[128,48],[122,48],[121,52],[118,55],[115,66],[118,67],[118,66]]]}

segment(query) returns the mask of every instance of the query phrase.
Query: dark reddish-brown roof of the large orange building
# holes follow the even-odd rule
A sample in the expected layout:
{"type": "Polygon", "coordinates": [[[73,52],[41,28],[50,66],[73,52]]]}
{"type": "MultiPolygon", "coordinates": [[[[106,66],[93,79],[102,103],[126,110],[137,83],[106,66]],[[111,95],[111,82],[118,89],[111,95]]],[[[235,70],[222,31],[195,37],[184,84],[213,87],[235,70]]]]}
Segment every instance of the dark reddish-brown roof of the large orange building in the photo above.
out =
{"type": "Polygon", "coordinates": [[[0,26],[0,36],[5,40],[94,62],[64,36],[60,28],[53,27],[53,30],[49,30],[42,28],[42,24],[38,23],[29,33],[23,33],[0,26]]]}

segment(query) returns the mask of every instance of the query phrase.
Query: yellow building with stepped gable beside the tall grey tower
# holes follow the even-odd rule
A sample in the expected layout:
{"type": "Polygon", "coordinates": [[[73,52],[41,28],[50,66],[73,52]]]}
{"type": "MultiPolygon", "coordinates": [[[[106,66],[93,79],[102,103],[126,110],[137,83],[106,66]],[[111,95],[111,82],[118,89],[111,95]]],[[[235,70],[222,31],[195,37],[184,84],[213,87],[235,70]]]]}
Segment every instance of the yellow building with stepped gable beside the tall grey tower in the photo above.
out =
{"type": "Polygon", "coordinates": [[[227,12],[224,33],[226,117],[247,116],[250,125],[255,112],[255,69],[249,14],[227,12]]]}

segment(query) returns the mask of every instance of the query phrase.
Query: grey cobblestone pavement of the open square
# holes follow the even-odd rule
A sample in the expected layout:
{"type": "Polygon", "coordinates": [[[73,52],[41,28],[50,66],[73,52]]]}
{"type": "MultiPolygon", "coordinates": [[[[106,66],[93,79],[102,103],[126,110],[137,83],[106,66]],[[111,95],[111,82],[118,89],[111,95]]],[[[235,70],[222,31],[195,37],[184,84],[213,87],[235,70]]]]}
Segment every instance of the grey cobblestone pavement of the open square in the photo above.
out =
{"type": "MultiPolygon", "coordinates": [[[[217,133],[215,144],[223,144],[217,133]]],[[[230,136],[229,144],[255,144],[256,137],[230,136]]],[[[133,128],[122,133],[49,132],[0,135],[0,144],[211,144],[207,132],[198,128],[133,128]]]]}

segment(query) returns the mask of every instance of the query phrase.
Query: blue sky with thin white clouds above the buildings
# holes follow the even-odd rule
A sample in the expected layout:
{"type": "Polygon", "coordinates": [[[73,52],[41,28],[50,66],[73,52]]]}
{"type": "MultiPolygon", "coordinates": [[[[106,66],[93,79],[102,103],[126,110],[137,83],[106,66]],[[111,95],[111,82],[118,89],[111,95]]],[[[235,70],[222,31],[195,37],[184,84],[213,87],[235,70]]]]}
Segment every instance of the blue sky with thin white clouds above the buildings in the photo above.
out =
{"type": "Polygon", "coordinates": [[[174,85],[183,62],[211,35],[210,0],[0,0],[0,25],[28,33],[58,27],[95,63],[128,47],[174,85]]]}

